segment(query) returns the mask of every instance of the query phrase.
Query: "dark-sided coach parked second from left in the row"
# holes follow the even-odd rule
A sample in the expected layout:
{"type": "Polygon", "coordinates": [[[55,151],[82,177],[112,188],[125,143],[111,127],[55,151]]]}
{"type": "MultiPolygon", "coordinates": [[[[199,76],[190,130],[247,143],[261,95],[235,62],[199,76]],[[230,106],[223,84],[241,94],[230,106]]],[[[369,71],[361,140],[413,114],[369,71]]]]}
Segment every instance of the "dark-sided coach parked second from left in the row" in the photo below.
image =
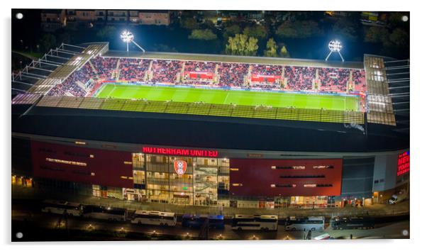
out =
{"type": "Polygon", "coordinates": [[[84,218],[95,218],[108,221],[126,221],[128,211],[124,208],[111,208],[106,206],[83,206],[84,218]]]}

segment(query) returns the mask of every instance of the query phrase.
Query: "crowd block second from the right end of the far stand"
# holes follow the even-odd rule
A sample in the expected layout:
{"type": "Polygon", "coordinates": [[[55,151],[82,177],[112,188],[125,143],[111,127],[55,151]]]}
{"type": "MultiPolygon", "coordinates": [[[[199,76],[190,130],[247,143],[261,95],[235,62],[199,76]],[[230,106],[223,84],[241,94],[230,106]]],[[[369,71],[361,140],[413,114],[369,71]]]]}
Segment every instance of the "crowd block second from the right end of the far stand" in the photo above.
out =
{"type": "Polygon", "coordinates": [[[350,79],[350,69],[318,68],[318,79],[323,91],[345,92],[350,79]]]}

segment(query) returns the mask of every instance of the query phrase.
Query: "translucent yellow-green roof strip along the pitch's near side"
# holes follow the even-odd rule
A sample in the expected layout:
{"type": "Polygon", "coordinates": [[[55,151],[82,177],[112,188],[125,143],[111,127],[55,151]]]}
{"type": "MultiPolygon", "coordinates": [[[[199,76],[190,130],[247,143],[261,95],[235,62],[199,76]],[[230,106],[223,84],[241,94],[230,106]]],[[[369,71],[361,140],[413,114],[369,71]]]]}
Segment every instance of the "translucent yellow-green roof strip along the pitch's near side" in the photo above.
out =
{"type": "Polygon", "coordinates": [[[138,111],[151,113],[179,113],[203,116],[236,118],[265,118],[288,121],[318,121],[331,123],[364,124],[362,112],[333,111],[308,108],[279,108],[237,106],[230,104],[194,104],[175,101],[143,101],[129,99],[82,98],[74,96],[39,96],[19,94],[13,104],[35,104],[35,106],[57,108],[99,109],[112,111],[138,111]],[[40,101],[38,101],[40,98],[40,101]]]}

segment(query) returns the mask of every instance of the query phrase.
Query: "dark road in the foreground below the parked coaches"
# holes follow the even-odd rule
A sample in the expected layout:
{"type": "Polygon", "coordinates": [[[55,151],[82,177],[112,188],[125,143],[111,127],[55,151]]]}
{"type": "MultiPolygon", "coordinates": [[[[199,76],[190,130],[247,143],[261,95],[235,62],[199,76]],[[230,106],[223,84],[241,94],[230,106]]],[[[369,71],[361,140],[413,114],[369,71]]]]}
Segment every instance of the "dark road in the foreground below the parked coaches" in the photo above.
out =
{"type": "MultiPolygon", "coordinates": [[[[182,228],[178,222],[174,227],[160,227],[151,225],[136,225],[129,222],[109,222],[96,221],[93,219],[68,217],[67,221],[60,215],[41,213],[40,206],[35,203],[12,204],[12,233],[13,241],[21,240],[82,240],[77,235],[86,235],[83,240],[199,240],[199,230],[182,228]],[[67,222],[67,225],[66,223],[67,222]],[[60,224],[58,224],[60,223],[60,224]],[[37,236],[30,238],[27,235],[38,235],[39,233],[49,233],[46,230],[54,230],[56,233],[69,235],[37,236]],[[72,233],[70,234],[70,230],[72,233]],[[17,239],[15,234],[21,232],[24,238],[17,239]],[[91,238],[93,234],[93,238],[91,238]],[[71,236],[71,237],[70,237],[71,236]],[[74,238],[75,237],[75,238],[74,238]]],[[[314,231],[312,237],[323,233],[329,233],[336,239],[360,238],[409,238],[404,235],[404,230],[409,231],[409,220],[396,221],[377,224],[371,230],[331,230],[327,225],[324,231],[314,231]]],[[[231,230],[231,225],[226,224],[223,230],[209,230],[211,240],[301,240],[304,239],[302,231],[284,231],[284,225],[279,225],[277,231],[235,231],[231,230]]]]}

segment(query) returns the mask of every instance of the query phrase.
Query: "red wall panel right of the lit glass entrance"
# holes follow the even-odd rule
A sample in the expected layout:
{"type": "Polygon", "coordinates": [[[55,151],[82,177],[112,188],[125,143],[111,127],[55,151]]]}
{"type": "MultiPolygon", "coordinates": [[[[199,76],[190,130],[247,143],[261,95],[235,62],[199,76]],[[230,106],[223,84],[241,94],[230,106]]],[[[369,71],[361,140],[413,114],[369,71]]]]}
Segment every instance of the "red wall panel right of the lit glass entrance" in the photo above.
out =
{"type": "Polygon", "coordinates": [[[238,196],[338,196],[341,194],[343,160],[230,160],[230,194],[238,196]],[[314,165],[333,165],[333,169],[314,169],[314,165]],[[305,166],[304,170],[272,169],[305,166]],[[233,169],[238,169],[234,170],[233,169]],[[280,176],[324,175],[322,178],[282,178],[280,176]],[[242,186],[233,186],[242,184],[242,186]],[[292,184],[295,187],[272,187],[292,184]],[[304,187],[304,184],[332,184],[326,187],[304,187]]]}

